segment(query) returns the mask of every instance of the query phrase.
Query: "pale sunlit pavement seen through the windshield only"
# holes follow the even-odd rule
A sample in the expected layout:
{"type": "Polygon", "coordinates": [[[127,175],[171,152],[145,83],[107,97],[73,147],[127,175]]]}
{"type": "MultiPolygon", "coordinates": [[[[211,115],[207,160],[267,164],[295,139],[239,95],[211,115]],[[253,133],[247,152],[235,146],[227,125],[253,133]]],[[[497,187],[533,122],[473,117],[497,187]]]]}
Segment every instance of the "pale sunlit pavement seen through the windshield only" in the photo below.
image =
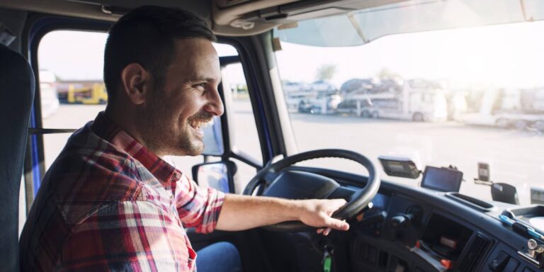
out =
{"type": "MultiPolygon", "coordinates": [[[[531,186],[544,187],[544,137],[538,133],[458,123],[412,123],[334,115],[295,114],[292,119],[300,149],[351,149],[376,164],[380,155],[412,157],[421,167],[452,164],[464,173],[465,182],[460,191],[477,198],[491,198],[488,186],[473,183],[477,162],[491,164],[494,182],[516,186],[523,204],[529,203],[531,186]]],[[[344,168],[355,169],[351,165],[344,168]]],[[[382,176],[390,179],[383,173],[382,176]]],[[[390,180],[414,186],[419,181],[390,180]]]]}

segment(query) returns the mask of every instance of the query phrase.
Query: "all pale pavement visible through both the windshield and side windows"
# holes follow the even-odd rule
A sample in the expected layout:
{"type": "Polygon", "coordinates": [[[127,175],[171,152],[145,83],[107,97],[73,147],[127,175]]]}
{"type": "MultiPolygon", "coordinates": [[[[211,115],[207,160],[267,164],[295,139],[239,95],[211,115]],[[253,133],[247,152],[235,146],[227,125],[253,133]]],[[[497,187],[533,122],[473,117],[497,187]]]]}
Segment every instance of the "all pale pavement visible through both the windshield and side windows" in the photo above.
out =
{"type": "MultiPolygon", "coordinates": [[[[239,149],[260,156],[256,142],[253,115],[249,103],[234,103],[237,123],[236,144],[239,149]]],[[[62,105],[44,121],[45,128],[79,128],[92,120],[103,106],[62,105]]],[[[379,155],[412,157],[421,166],[453,164],[464,172],[461,192],[482,199],[490,199],[488,186],[476,185],[477,162],[491,164],[492,180],[510,183],[519,191],[522,204],[529,203],[531,186],[544,188],[544,135],[467,126],[458,123],[412,123],[398,120],[372,120],[341,115],[310,115],[293,113],[292,126],[299,151],[317,148],[344,148],[365,154],[378,164],[379,155]]],[[[46,165],[57,156],[69,135],[46,135],[46,165]]],[[[189,171],[197,158],[176,158],[182,171],[189,171]]],[[[347,171],[361,170],[361,166],[344,160],[322,159],[314,165],[347,171]]],[[[378,164],[379,165],[379,164],[378,164]]],[[[241,166],[244,180],[254,171],[241,166]]],[[[381,168],[381,167],[380,167],[381,168]]],[[[390,178],[416,186],[419,180],[390,178]]]]}

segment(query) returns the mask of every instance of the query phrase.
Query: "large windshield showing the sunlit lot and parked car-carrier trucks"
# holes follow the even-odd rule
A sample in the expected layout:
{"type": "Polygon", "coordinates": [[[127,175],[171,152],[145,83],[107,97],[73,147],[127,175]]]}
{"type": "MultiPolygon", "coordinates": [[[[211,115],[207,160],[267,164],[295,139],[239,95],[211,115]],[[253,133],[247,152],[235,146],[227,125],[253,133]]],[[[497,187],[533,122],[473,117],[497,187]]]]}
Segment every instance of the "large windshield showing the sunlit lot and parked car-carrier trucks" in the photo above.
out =
{"type": "MultiPolygon", "coordinates": [[[[397,16],[433,29],[406,11],[397,16]]],[[[353,31],[323,20],[299,26],[323,37],[353,31]]],[[[491,200],[489,185],[475,183],[488,176],[515,186],[521,205],[544,200],[544,22],[385,35],[351,47],[310,46],[304,39],[312,35],[285,42],[282,31],[293,28],[275,31],[299,152],[351,149],[379,169],[379,156],[407,157],[421,170],[455,166],[463,171],[460,193],[491,200]]],[[[341,160],[310,164],[361,169],[341,160]]],[[[409,186],[421,180],[381,176],[409,186]]]]}

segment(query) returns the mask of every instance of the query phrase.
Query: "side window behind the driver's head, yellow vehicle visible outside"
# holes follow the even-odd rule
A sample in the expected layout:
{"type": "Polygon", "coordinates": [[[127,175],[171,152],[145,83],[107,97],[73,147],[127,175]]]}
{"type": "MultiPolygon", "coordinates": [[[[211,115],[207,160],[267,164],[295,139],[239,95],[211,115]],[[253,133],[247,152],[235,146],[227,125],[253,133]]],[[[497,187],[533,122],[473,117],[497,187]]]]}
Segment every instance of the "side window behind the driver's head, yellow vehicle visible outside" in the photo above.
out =
{"type": "MultiPolygon", "coordinates": [[[[102,79],[106,33],[55,30],[38,46],[42,128],[78,129],[106,109],[102,79]]],[[[45,169],[66,144],[68,133],[43,135],[45,169]]]]}

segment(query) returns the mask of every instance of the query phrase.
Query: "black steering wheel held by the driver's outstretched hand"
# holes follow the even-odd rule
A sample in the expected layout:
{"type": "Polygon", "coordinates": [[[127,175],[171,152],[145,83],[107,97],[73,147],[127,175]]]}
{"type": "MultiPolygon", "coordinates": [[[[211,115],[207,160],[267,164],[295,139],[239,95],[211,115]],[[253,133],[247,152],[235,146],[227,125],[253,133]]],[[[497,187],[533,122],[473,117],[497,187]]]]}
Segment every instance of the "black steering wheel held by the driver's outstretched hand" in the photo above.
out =
{"type": "MultiPolygon", "coordinates": [[[[368,205],[380,188],[380,175],[367,157],[344,149],[318,149],[285,157],[264,167],[249,181],[244,189],[244,195],[251,196],[255,188],[266,183],[266,176],[271,174],[274,174],[276,178],[264,189],[262,196],[288,199],[344,198],[347,201],[346,205],[336,210],[332,215],[332,217],[340,220],[347,220],[357,215],[368,205]],[[334,179],[326,176],[306,171],[284,171],[285,168],[297,162],[319,158],[342,158],[358,162],[368,171],[368,181],[365,187],[353,191],[353,189],[341,186],[334,179]]],[[[302,232],[314,229],[314,227],[307,226],[300,221],[281,222],[263,228],[276,232],[302,232]]]]}

